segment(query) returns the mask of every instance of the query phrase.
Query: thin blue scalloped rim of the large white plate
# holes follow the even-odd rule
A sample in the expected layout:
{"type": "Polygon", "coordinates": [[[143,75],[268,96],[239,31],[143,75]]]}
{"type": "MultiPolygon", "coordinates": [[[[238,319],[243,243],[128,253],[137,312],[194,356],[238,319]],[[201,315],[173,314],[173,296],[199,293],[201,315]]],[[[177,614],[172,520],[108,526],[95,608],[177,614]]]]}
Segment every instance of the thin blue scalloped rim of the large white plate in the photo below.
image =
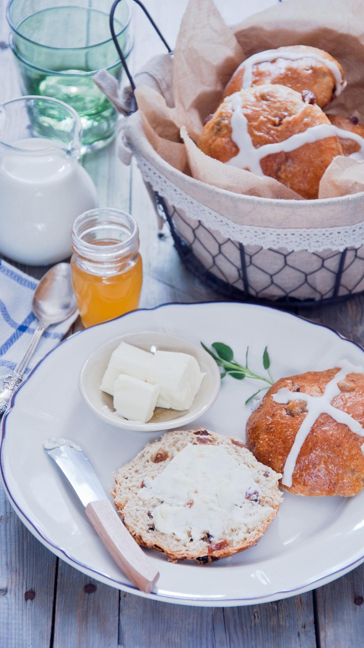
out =
{"type": "MultiPolygon", "coordinates": [[[[237,305],[236,302],[229,302],[229,301],[222,301],[222,302],[219,302],[219,301],[205,301],[205,302],[195,302],[195,303],[192,303],[192,304],[181,303],[181,302],[170,302],[170,303],[161,304],[161,305],[159,305],[157,307],[154,307],[154,308],[140,308],[140,309],[137,309],[137,310],[148,312],[148,311],[158,310],[159,308],[165,308],[165,307],[168,307],[168,306],[194,307],[196,305],[209,305],[209,304],[217,304],[217,303],[221,303],[223,305],[229,305],[229,304],[234,305],[234,306],[237,305]]],[[[323,329],[330,330],[332,333],[334,333],[341,340],[350,342],[352,345],[354,345],[354,347],[358,347],[358,349],[361,352],[364,352],[364,349],[363,349],[363,347],[361,347],[361,345],[359,345],[357,342],[355,342],[353,340],[348,340],[348,338],[346,338],[345,336],[343,336],[341,333],[339,333],[337,330],[333,329],[330,326],[310,321],[309,319],[302,318],[299,315],[284,312],[284,311],[280,310],[279,308],[266,307],[266,306],[261,306],[261,305],[244,304],[244,303],[240,304],[240,306],[242,306],[244,308],[262,308],[263,310],[274,310],[275,312],[280,312],[280,314],[283,317],[286,316],[288,318],[301,319],[301,320],[305,321],[307,324],[312,325],[313,327],[321,327],[323,329]]],[[[137,311],[136,310],[131,311],[129,313],[126,313],[126,314],[120,316],[119,318],[114,318],[114,319],[109,320],[109,321],[116,321],[118,319],[127,318],[131,313],[135,313],[135,312],[137,312],[137,311]]],[[[221,597],[220,596],[209,597],[209,599],[198,597],[198,596],[196,597],[194,595],[191,596],[190,598],[188,598],[187,595],[184,595],[183,597],[179,597],[176,594],[174,594],[172,592],[167,592],[165,590],[159,590],[160,593],[157,593],[157,594],[155,594],[154,592],[152,592],[151,594],[144,594],[143,592],[141,592],[135,586],[133,586],[133,585],[131,585],[129,583],[125,583],[124,581],[119,581],[117,579],[113,579],[112,577],[105,576],[104,573],[98,572],[98,570],[93,569],[92,567],[88,566],[87,564],[84,564],[83,562],[80,562],[80,561],[74,559],[65,550],[63,550],[62,548],[56,546],[47,537],[45,537],[40,532],[40,530],[35,526],[35,524],[28,518],[28,516],[25,515],[25,513],[23,512],[21,507],[17,504],[17,502],[14,499],[14,497],[12,496],[12,493],[10,492],[10,489],[9,489],[8,484],[6,482],[5,470],[4,470],[4,465],[3,465],[3,445],[4,445],[4,441],[5,441],[5,436],[6,436],[6,421],[8,419],[8,415],[14,409],[14,405],[15,405],[15,402],[16,402],[16,397],[17,397],[19,391],[21,391],[23,386],[25,386],[25,384],[28,382],[28,380],[31,378],[31,376],[37,371],[37,369],[40,367],[40,365],[44,362],[44,360],[51,353],[54,353],[54,351],[56,351],[56,349],[58,349],[58,347],[60,347],[60,345],[68,343],[69,340],[74,339],[76,336],[78,336],[78,335],[87,335],[87,332],[89,330],[92,330],[92,329],[95,329],[97,327],[103,326],[105,323],[107,323],[107,322],[104,322],[102,324],[97,324],[97,325],[95,325],[93,327],[89,327],[89,329],[77,331],[73,335],[69,336],[69,338],[66,338],[65,340],[60,342],[60,344],[58,344],[56,347],[54,347],[54,349],[49,351],[49,353],[47,353],[44,356],[44,358],[42,358],[40,360],[40,362],[38,362],[38,364],[34,367],[34,369],[32,369],[32,371],[29,373],[27,378],[19,386],[16,393],[12,397],[12,400],[10,402],[10,406],[9,406],[8,410],[6,411],[6,413],[5,413],[4,417],[3,417],[3,421],[2,421],[2,424],[1,424],[1,443],[0,443],[1,478],[2,478],[2,481],[3,481],[3,485],[5,487],[6,496],[8,497],[8,500],[10,501],[14,511],[17,513],[17,515],[19,516],[19,518],[21,519],[23,524],[25,524],[25,526],[32,533],[32,535],[34,535],[34,537],[36,537],[38,540],[41,538],[40,541],[42,542],[42,544],[44,546],[46,546],[49,550],[51,550],[52,553],[54,553],[55,555],[57,555],[61,559],[65,560],[65,562],[67,562],[68,564],[70,564],[74,568],[78,569],[79,571],[81,571],[83,573],[86,573],[86,575],[90,575],[91,577],[93,577],[93,576],[96,577],[102,583],[109,584],[109,585],[112,585],[112,584],[115,583],[115,586],[117,588],[122,589],[125,592],[129,592],[130,594],[138,594],[139,596],[154,599],[156,601],[166,601],[166,602],[169,602],[169,603],[181,602],[181,603],[185,603],[187,605],[197,605],[197,606],[201,606],[201,607],[202,606],[209,607],[209,606],[211,606],[212,603],[215,606],[219,605],[221,607],[224,607],[224,606],[229,607],[229,606],[233,606],[233,605],[249,605],[252,601],[254,601],[255,603],[265,603],[267,601],[277,601],[277,600],[282,599],[282,598],[286,598],[286,597],[290,597],[290,596],[296,596],[297,594],[302,594],[304,592],[310,591],[315,587],[319,587],[319,586],[321,586],[323,584],[330,583],[334,579],[336,579],[336,578],[338,578],[338,577],[340,577],[342,575],[345,575],[346,573],[350,572],[352,569],[359,566],[362,562],[364,562],[364,548],[363,548],[363,555],[361,555],[361,557],[356,559],[354,562],[349,562],[347,565],[339,568],[338,570],[335,570],[334,572],[330,572],[330,573],[328,573],[326,575],[320,576],[317,579],[311,579],[311,580],[307,581],[306,583],[302,583],[300,586],[298,586],[296,588],[290,588],[288,590],[277,590],[277,592],[273,592],[273,594],[268,594],[267,596],[258,596],[258,597],[249,597],[249,598],[248,597],[239,597],[239,598],[233,598],[233,599],[226,599],[226,598],[223,598],[223,595],[221,597]]]]}

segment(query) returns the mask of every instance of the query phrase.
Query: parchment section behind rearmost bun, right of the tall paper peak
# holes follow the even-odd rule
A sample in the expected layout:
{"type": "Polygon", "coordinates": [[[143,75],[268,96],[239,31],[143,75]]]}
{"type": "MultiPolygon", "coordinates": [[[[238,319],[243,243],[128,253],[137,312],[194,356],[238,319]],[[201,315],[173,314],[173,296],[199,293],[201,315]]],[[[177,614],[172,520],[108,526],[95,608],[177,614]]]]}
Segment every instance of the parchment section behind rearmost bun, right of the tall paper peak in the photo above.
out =
{"type": "Polygon", "coordinates": [[[330,112],[364,117],[363,0],[289,0],[234,27],[245,56],[283,45],[312,45],[343,66],[348,85],[330,112]]]}

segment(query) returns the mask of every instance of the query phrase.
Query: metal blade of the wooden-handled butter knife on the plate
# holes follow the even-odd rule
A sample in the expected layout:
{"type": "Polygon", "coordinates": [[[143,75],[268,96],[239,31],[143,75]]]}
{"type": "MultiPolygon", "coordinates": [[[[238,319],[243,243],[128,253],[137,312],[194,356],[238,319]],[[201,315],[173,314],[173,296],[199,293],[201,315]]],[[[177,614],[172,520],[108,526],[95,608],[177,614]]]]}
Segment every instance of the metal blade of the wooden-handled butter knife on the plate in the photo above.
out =
{"type": "Polygon", "coordinates": [[[65,474],[84,507],[89,502],[108,499],[91,461],[74,441],[51,438],[43,443],[43,448],[65,474]]]}

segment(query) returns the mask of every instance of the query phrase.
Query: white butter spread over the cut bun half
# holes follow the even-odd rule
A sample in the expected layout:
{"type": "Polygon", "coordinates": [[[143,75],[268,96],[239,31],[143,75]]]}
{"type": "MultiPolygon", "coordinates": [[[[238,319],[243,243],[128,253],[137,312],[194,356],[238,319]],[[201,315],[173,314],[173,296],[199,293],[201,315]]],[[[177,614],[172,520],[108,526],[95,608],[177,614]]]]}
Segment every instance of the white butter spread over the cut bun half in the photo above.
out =
{"type": "Polygon", "coordinates": [[[246,498],[260,496],[254,471],[225,448],[188,443],[154,480],[144,478],[143,500],[159,500],[153,510],[155,528],[179,540],[199,540],[207,531],[228,537],[231,529],[259,522],[262,507],[246,498]],[[190,502],[190,505],[187,503],[190,502]]]}

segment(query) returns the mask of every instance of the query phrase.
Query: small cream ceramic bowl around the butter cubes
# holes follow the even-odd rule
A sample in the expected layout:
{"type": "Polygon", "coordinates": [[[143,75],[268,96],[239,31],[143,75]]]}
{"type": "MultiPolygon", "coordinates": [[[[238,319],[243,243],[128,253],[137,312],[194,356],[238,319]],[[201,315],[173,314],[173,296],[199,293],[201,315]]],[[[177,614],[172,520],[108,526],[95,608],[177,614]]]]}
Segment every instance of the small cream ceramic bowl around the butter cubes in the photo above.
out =
{"type": "Polygon", "coordinates": [[[158,432],[163,430],[175,430],[178,427],[185,427],[190,422],[198,419],[207,412],[219,393],[221,384],[220,369],[214,359],[204,351],[201,345],[194,344],[176,335],[168,333],[146,332],[128,333],[106,344],[98,347],[86,360],[82,367],[78,387],[86,405],[98,416],[99,419],[115,425],[124,430],[140,430],[141,432],[158,432]],[[177,353],[188,353],[198,361],[199,368],[205,376],[201,387],[196,394],[194,402],[189,410],[177,411],[166,410],[157,407],[154,415],[148,423],[128,421],[120,417],[113,408],[113,397],[100,390],[102,376],[109,364],[110,356],[119,344],[124,341],[143,351],[150,351],[152,347],[160,351],[177,351],[177,353]]]}

